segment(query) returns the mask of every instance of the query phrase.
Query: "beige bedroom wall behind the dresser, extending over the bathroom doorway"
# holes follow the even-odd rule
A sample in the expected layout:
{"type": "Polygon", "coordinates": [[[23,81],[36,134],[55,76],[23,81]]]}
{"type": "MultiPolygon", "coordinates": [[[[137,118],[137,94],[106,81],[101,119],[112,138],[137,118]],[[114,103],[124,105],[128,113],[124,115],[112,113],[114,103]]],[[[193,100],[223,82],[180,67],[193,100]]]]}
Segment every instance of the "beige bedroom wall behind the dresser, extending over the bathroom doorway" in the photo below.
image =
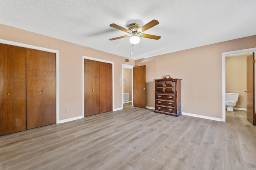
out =
{"type": "Polygon", "coordinates": [[[222,53],[254,47],[256,35],[136,60],[146,65],[147,106],[154,107],[154,79],[169,74],[182,79],[182,112],[221,119],[222,53]]]}

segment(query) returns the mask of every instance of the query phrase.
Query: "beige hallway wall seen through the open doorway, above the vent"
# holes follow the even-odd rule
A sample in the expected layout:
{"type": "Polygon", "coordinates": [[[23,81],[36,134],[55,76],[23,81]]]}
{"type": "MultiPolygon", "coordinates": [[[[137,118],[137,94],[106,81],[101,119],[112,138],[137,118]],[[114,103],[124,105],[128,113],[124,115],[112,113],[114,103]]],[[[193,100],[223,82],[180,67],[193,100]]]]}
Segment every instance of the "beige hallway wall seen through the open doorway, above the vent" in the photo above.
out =
{"type": "Polygon", "coordinates": [[[129,101],[132,101],[132,71],[131,71],[131,69],[123,68],[123,86],[124,86],[123,93],[129,93],[129,101]],[[126,79],[126,81],[124,79],[126,79]]]}

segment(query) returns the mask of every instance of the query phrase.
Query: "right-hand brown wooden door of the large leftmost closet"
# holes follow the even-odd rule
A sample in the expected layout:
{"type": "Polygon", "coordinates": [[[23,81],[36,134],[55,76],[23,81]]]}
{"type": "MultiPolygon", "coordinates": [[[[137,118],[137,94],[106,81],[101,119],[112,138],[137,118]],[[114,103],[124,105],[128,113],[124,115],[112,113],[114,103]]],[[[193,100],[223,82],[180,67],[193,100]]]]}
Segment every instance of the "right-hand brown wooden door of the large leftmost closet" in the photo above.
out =
{"type": "Polygon", "coordinates": [[[26,49],[27,129],[56,123],[55,53],[26,49]]]}

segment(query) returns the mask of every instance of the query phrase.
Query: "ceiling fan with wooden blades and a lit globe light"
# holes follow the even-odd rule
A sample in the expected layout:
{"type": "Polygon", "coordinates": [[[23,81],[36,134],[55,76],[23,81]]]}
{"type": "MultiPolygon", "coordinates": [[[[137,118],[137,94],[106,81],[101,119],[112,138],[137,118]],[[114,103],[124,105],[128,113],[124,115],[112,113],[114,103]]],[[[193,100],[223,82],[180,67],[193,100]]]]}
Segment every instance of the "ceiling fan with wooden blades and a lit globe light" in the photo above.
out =
{"type": "Polygon", "coordinates": [[[116,40],[116,39],[120,39],[120,38],[130,37],[130,42],[132,43],[132,45],[136,45],[140,42],[140,38],[138,36],[143,37],[143,38],[150,38],[150,39],[158,40],[161,38],[160,36],[142,33],[144,31],[146,31],[147,29],[150,29],[150,28],[156,26],[158,23],[159,22],[157,20],[152,20],[149,23],[143,25],[142,27],[140,27],[137,23],[132,23],[128,29],[121,27],[119,25],[116,25],[115,23],[111,23],[109,25],[110,27],[113,27],[113,28],[119,29],[121,31],[124,31],[126,33],[129,33],[130,35],[115,37],[115,38],[111,38],[109,40],[112,41],[112,40],[116,40]]]}

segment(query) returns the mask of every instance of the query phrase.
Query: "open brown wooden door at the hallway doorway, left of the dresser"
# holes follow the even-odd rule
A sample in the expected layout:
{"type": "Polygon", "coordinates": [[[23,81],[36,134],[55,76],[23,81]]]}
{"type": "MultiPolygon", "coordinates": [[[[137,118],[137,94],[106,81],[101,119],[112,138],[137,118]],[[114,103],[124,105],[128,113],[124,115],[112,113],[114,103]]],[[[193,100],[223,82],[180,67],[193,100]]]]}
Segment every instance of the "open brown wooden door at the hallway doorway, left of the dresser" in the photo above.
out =
{"type": "Polygon", "coordinates": [[[146,108],[146,66],[133,68],[133,106],[146,108]]]}

